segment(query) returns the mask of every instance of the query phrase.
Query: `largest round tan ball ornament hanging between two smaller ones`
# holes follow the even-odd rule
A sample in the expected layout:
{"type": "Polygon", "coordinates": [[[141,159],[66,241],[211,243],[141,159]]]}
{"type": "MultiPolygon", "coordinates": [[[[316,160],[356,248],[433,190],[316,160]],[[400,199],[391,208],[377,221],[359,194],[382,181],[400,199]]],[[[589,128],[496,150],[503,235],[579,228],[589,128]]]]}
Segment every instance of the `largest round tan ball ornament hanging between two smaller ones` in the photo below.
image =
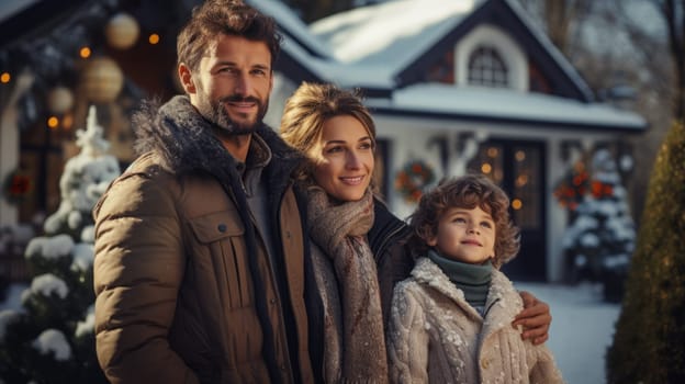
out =
{"type": "Polygon", "coordinates": [[[83,68],[82,86],[86,97],[93,103],[110,103],[124,87],[124,74],[109,57],[90,59],[83,68]]]}

